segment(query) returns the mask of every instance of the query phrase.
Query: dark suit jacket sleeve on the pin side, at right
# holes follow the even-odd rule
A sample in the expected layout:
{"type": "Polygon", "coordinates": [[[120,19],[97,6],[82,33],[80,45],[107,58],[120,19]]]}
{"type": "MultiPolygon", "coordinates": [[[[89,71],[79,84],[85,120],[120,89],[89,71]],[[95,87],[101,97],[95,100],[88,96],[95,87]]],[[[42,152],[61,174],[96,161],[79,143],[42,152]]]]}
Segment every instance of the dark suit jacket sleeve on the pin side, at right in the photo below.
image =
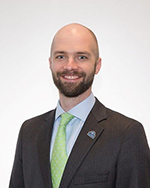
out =
{"type": "Polygon", "coordinates": [[[124,135],[116,188],[150,188],[150,150],[140,123],[132,123],[124,135]]]}

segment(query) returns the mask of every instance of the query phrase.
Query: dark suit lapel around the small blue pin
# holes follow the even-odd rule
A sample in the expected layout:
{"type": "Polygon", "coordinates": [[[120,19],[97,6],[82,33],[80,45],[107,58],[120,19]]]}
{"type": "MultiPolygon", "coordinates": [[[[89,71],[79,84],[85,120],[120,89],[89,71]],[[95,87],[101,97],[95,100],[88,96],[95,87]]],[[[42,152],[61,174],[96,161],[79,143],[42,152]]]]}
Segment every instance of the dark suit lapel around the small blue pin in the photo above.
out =
{"type": "Polygon", "coordinates": [[[60,183],[60,188],[68,187],[74,174],[78,170],[82,161],[94,145],[95,141],[99,138],[104,130],[102,120],[106,119],[106,108],[96,100],[96,103],[89,114],[78,138],[72,149],[66,168],[60,183]],[[96,137],[90,138],[87,133],[95,131],[96,137]]]}

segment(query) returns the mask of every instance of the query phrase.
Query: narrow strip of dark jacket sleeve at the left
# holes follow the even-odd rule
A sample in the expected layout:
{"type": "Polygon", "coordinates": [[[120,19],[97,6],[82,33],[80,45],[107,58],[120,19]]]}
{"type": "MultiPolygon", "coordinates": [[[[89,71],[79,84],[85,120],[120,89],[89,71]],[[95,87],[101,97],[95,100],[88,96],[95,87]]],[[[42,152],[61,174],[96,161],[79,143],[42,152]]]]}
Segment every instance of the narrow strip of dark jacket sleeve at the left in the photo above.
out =
{"type": "Polygon", "coordinates": [[[22,165],[22,129],[20,130],[9,188],[25,188],[22,165]]]}

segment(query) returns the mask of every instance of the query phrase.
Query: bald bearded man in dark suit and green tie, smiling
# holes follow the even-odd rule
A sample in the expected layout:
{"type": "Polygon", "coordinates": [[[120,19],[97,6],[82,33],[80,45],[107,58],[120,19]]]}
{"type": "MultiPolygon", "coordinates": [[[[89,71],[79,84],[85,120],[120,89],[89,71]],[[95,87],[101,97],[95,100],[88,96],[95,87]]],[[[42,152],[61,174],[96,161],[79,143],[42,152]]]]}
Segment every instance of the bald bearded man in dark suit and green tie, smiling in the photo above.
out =
{"type": "Polygon", "coordinates": [[[101,67],[93,32],[80,24],[61,28],[49,65],[60,99],[55,110],[22,125],[10,188],[150,188],[142,125],[91,92],[101,67]],[[66,112],[71,118],[62,125],[66,112]]]}

